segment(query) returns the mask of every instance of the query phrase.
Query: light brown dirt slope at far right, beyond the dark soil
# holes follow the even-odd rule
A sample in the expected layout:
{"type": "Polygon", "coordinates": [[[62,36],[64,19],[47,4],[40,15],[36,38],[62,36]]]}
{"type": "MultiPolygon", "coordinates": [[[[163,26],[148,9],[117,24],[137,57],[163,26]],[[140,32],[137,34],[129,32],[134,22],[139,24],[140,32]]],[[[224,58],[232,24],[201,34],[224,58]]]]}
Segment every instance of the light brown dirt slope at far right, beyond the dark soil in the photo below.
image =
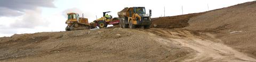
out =
{"type": "Polygon", "coordinates": [[[240,52],[256,58],[256,1],[207,12],[188,21],[189,30],[206,32],[240,52]]]}

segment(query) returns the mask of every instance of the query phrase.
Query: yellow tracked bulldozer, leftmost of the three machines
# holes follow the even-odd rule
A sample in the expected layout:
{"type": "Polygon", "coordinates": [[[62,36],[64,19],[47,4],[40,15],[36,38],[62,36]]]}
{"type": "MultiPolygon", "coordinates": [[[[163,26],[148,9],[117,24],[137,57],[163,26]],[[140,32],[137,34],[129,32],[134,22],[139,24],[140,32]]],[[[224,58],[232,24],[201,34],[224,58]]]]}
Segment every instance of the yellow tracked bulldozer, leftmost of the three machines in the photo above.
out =
{"type": "Polygon", "coordinates": [[[66,31],[70,30],[81,30],[81,29],[91,29],[95,28],[93,23],[88,23],[88,19],[84,17],[79,17],[79,14],[68,13],[68,20],[66,20],[66,31]]]}

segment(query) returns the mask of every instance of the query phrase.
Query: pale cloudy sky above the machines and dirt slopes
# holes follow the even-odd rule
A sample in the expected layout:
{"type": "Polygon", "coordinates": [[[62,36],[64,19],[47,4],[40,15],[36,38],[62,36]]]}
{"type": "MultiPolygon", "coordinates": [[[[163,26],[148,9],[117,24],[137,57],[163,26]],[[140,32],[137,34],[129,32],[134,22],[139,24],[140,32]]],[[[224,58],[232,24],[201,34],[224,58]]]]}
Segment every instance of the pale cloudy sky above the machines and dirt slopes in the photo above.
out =
{"type": "Polygon", "coordinates": [[[146,7],[152,17],[211,11],[253,0],[0,0],[0,37],[13,34],[65,31],[67,13],[84,14],[89,22],[125,7],[146,7]],[[165,11],[165,12],[164,12],[165,11]]]}

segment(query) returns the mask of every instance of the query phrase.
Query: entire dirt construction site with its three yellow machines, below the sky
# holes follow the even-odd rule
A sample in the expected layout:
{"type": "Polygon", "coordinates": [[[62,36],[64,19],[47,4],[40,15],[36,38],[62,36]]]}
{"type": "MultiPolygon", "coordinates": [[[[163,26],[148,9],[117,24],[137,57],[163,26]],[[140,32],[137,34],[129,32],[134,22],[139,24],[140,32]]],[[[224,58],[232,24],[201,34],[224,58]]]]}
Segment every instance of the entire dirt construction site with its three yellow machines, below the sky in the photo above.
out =
{"type": "Polygon", "coordinates": [[[0,61],[256,61],[256,1],[155,18],[145,8],[102,11],[93,22],[68,13],[66,31],[0,37],[0,61]]]}

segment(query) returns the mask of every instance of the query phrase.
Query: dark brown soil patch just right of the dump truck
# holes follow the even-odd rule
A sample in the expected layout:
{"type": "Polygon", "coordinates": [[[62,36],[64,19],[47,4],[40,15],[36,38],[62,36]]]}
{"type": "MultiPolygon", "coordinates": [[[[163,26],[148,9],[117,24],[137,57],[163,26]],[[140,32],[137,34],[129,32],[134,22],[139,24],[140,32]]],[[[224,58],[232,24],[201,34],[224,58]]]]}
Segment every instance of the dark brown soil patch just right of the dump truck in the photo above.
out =
{"type": "Polygon", "coordinates": [[[194,13],[194,14],[186,14],[186,15],[178,15],[178,16],[152,18],[151,27],[156,27],[156,28],[186,27],[186,26],[189,26],[188,20],[191,17],[195,17],[201,14],[204,14],[204,13],[194,13]]]}

